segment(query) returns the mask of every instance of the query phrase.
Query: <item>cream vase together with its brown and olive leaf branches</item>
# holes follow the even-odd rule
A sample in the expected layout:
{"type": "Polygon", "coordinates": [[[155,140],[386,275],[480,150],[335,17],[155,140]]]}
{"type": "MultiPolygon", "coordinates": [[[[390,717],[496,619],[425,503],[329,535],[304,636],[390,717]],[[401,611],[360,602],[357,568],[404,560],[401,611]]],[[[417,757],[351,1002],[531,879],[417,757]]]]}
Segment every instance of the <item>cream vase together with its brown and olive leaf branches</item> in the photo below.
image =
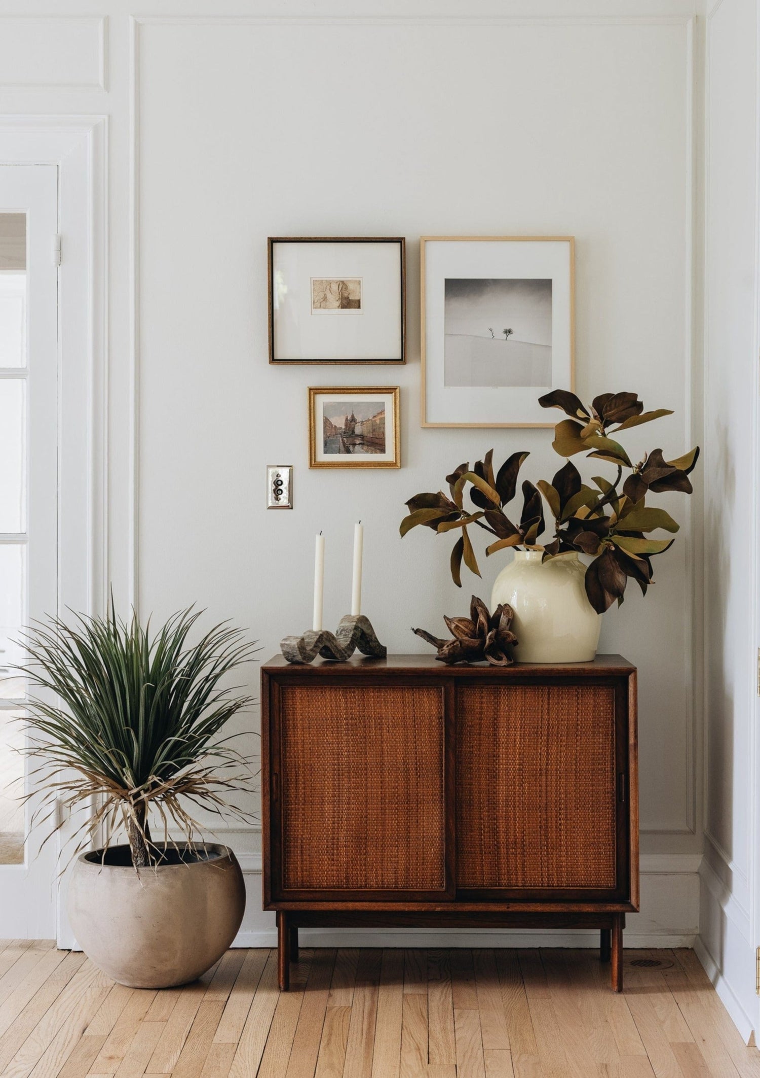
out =
{"type": "Polygon", "coordinates": [[[650,533],[673,534],[678,524],[664,509],[648,506],[646,499],[673,490],[691,494],[688,476],[696,464],[699,446],[672,460],[665,459],[662,450],[652,450],[634,464],[618,436],[672,414],[668,409],[645,412],[636,393],[602,393],[587,405],[575,393],[558,389],[539,398],[539,403],[559,407],[567,416],[554,428],[552,447],[561,457],[586,453],[615,465],[617,474],[611,479],[594,475],[593,485],[588,485],[568,459],[551,482],[539,480],[534,485],[523,481],[518,516],[508,507],[529,454],[512,453],[494,471],[490,450],[472,470],[463,464],[446,476],[449,495],[439,490],[410,498],[400,534],[418,525],[437,534],[458,531],[451,552],[451,576],[458,586],[462,585],[462,562],[480,576],[469,525],[493,536],[487,556],[512,549],[515,559],[496,578],[491,609],[502,604],[512,608],[511,628],[519,641],[516,659],[583,662],[595,655],[601,614],[616,600],[623,602],[628,580],[635,580],[645,595],[652,583],[651,559],[668,550],[674,540],[652,538],[650,533]],[[465,493],[472,505],[465,505],[465,493]],[[553,535],[541,543],[545,502],[553,535]],[[593,558],[588,568],[579,554],[593,558]]]}

